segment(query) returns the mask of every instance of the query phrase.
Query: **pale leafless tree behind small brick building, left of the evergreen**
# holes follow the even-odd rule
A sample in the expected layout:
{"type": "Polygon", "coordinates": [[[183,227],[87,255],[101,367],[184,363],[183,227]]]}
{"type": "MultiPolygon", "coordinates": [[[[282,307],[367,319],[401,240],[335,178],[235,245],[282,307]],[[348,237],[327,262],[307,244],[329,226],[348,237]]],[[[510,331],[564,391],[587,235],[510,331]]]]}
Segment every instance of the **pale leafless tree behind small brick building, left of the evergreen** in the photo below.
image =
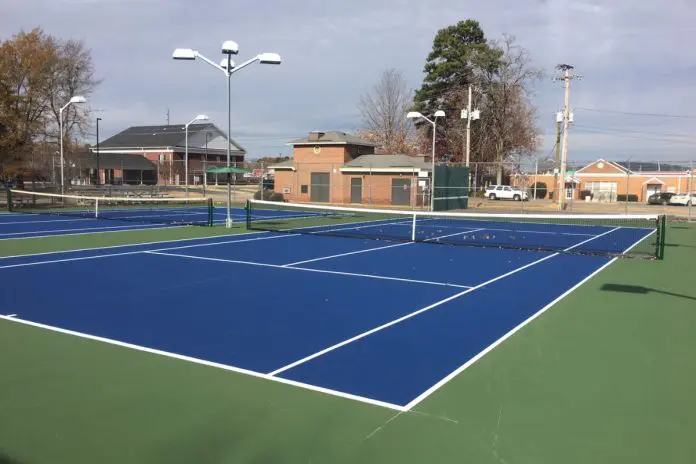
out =
{"type": "Polygon", "coordinates": [[[417,149],[413,126],[406,113],[413,106],[413,91],[401,71],[387,69],[372,92],[360,97],[359,134],[378,145],[382,153],[412,153],[417,149]]]}

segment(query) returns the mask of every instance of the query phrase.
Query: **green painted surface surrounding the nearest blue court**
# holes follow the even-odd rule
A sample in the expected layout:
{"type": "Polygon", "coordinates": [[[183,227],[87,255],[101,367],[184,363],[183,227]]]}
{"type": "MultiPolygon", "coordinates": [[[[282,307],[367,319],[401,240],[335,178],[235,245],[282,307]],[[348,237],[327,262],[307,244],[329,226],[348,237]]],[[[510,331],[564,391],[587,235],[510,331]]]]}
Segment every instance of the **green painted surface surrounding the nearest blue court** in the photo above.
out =
{"type": "MultiPolygon", "coordinates": [[[[235,232],[6,240],[0,255],[235,232]]],[[[79,299],[89,283],[65,285],[79,299]]],[[[694,328],[686,223],[664,261],[614,262],[408,412],[0,320],[0,464],[691,463],[694,328]]]]}

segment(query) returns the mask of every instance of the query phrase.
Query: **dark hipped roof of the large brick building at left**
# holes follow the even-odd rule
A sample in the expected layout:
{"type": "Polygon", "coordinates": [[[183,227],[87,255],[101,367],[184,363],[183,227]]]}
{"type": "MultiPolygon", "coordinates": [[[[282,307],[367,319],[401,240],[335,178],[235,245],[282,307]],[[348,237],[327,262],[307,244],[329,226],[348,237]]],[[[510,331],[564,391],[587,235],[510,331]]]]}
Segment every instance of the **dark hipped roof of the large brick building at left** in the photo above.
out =
{"type": "MultiPolygon", "coordinates": [[[[226,138],[226,134],[215,124],[191,124],[188,128],[189,148],[203,148],[206,144],[207,133],[217,134],[218,137],[226,138]]],[[[208,138],[208,141],[211,141],[208,138]]],[[[119,132],[113,137],[99,143],[100,150],[114,149],[157,149],[157,148],[185,148],[186,130],[183,124],[171,126],[133,126],[119,132]]],[[[210,149],[219,147],[209,144],[210,149]]],[[[226,149],[227,143],[222,144],[222,149],[226,149]]],[[[237,142],[230,139],[232,150],[245,153],[246,150],[237,142]]]]}

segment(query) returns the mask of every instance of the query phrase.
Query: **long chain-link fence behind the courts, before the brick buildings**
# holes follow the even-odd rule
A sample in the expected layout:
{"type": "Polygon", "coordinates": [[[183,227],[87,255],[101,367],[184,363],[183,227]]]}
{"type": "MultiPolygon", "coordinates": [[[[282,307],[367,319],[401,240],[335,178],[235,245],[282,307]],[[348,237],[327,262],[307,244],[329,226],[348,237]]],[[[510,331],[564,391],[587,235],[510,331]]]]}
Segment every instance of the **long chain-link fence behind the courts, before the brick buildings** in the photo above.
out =
{"type": "MultiPolygon", "coordinates": [[[[224,156],[189,159],[188,170],[183,160],[150,160],[148,169],[112,163],[109,168],[100,169],[101,176],[97,179],[93,164],[69,158],[64,171],[67,191],[99,189],[107,195],[118,195],[131,190],[169,196],[185,195],[188,191],[189,195],[222,201],[227,198],[229,178],[235,203],[264,198],[365,207],[430,208],[432,178],[428,160],[413,158],[408,165],[398,166],[377,159],[372,164],[235,161],[233,167],[247,172],[230,176],[207,172],[213,167],[226,166],[224,156]]],[[[49,191],[59,188],[58,155],[34,155],[33,159],[25,156],[23,163],[24,188],[49,191]]],[[[461,196],[464,190],[468,209],[481,212],[661,213],[694,217],[696,161],[572,162],[567,166],[563,182],[553,164],[533,159],[470,163],[468,186],[465,189],[438,186],[437,197],[461,196]]],[[[8,172],[6,166],[0,166],[0,174],[3,172],[8,172]]]]}

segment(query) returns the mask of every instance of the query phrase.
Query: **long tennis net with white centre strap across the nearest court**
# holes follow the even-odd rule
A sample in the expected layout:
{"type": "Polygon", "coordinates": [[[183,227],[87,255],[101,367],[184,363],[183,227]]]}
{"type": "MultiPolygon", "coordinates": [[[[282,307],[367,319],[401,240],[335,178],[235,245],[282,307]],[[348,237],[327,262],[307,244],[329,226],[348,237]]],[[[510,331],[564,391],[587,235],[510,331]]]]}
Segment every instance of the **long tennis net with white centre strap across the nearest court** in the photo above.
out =
{"type": "Polygon", "coordinates": [[[658,215],[478,214],[250,200],[247,228],[297,234],[519,250],[662,258],[658,215]]]}

